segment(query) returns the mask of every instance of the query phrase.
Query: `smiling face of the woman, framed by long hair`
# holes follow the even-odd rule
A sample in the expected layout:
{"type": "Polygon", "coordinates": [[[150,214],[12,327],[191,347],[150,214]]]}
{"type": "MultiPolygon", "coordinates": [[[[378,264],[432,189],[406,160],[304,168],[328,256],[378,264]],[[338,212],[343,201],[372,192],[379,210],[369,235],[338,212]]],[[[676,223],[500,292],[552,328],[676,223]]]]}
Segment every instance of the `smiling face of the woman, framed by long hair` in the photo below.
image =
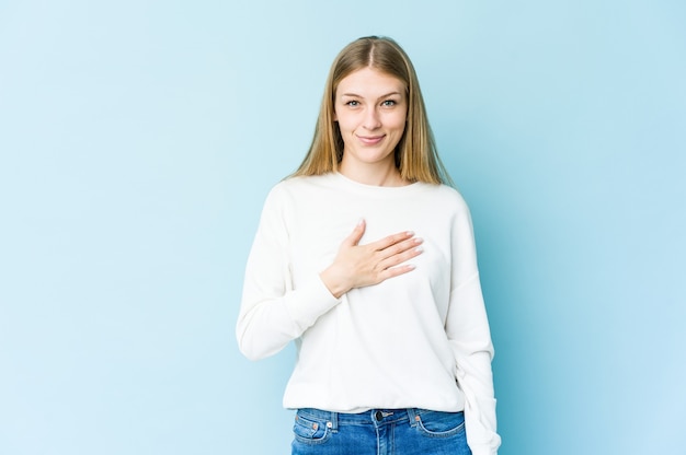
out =
{"type": "Polygon", "coordinates": [[[388,170],[408,116],[404,83],[371,68],[343,78],[334,98],[334,119],[343,137],[341,167],[388,170]]]}

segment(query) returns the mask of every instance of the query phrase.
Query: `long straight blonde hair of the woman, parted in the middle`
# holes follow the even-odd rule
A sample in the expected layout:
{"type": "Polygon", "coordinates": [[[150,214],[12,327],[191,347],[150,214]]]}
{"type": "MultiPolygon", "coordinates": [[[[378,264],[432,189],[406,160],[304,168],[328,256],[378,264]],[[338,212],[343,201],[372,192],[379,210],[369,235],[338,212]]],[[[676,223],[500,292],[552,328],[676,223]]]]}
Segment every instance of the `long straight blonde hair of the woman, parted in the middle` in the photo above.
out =
{"type": "Polygon", "coordinates": [[[407,125],[395,152],[400,176],[408,182],[453,185],[436,151],[414,67],[393,39],[378,36],[354,40],[333,61],[312,143],[293,176],[321,175],[338,170],[343,158],[343,138],[339,124],[334,121],[335,92],[345,77],[363,68],[373,68],[398,78],[405,85],[407,125]]]}

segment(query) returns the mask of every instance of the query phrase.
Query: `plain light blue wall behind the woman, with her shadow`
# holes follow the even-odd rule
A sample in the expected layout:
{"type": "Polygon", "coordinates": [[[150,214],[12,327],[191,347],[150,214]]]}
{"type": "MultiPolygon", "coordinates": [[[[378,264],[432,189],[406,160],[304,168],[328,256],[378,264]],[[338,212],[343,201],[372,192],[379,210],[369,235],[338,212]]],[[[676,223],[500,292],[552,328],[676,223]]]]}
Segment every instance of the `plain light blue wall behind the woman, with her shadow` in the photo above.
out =
{"type": "Polygon", "coordinates": [[[501,454],[684,454],[686,3],[0,1],[0,453],[286,454],[233,327],[335,54],[412,57],[468,200],[501,454]]]}

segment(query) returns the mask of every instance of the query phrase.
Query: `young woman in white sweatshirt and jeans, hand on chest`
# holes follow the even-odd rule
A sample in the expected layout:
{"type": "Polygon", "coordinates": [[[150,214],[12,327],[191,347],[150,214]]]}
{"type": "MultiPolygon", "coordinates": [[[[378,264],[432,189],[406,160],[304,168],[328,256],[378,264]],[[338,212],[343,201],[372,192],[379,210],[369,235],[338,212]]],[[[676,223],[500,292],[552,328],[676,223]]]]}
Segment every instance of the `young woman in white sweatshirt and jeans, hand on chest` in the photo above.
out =
{"type": "Polygon", "coordinates": [[[237,324],[295,340],[293,454],[496,454],[493,347],[469,210],[392,39],[336,57],[310,150],[270,192],[237,324]]]}

